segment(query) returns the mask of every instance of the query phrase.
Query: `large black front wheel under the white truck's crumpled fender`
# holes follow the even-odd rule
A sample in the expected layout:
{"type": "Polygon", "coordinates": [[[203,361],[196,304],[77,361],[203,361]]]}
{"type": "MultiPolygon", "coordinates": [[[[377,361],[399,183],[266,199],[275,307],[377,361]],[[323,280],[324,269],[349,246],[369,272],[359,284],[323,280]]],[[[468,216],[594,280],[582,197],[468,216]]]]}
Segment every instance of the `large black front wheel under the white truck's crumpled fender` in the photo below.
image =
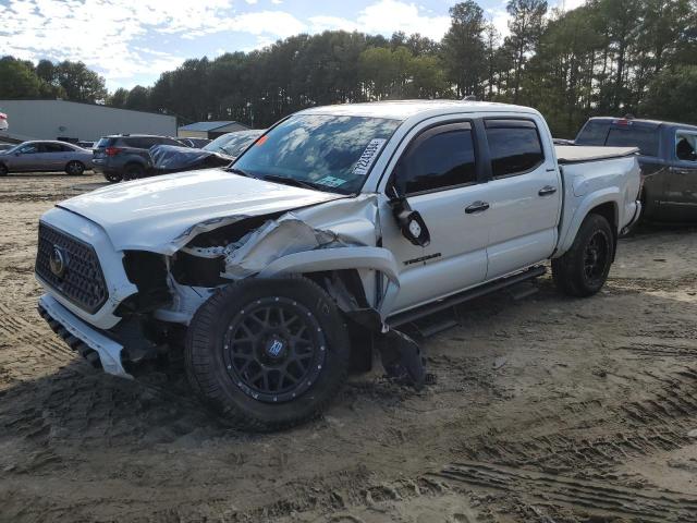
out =
{"type": "Polygon", "coordinates": [[[305,278],[248,279],[194,316],[185,364],[192,388],[247,430],[318,415],[346,378],[348,335],[327,293],[305,278]]]}

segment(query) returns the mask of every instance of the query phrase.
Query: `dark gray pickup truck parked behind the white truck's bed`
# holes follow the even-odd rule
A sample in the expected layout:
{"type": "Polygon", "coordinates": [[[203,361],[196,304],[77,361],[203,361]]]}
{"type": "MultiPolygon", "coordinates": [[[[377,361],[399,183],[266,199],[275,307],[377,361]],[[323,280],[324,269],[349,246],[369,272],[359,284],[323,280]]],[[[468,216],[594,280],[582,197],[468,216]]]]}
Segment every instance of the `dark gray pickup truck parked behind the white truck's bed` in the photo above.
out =
{"type": "Polygon", "coordinates": [[[697,221],[697,126],[591,118],[574,144],[638,147],[644,216],[658,221],[697,221]]]}

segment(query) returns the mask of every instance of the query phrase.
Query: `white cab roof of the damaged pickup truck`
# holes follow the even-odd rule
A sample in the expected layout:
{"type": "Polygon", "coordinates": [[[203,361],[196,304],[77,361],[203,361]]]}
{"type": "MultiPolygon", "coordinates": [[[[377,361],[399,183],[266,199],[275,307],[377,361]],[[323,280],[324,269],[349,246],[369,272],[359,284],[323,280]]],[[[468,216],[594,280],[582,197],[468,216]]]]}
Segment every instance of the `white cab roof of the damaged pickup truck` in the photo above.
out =
{"type": "Polygon", "coordinates": [[[341,117],[371,117],[392,120],[407,120],[412,117],[435,117],[452,112],[523,112],[538,114],[535,109],[509,104],[465,100],[399,100],[374,101],[369,104],[344,104],[339,106],[313,107],[299,114],[332,114],[341,117]]]}

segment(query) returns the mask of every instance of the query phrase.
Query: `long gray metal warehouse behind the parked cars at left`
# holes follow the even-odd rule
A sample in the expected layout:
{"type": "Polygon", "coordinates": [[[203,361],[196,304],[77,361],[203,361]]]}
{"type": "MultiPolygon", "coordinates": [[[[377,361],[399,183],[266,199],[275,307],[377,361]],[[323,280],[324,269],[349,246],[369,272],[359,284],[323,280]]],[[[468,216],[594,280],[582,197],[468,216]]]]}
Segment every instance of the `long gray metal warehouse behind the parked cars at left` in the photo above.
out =
{"type": "Polygon", "coordinates": [[[2,136],[25,139],[96,141],[109,134],[174,136],[176,118],[65,100],[0,100],[9,130],[2,136]]]}

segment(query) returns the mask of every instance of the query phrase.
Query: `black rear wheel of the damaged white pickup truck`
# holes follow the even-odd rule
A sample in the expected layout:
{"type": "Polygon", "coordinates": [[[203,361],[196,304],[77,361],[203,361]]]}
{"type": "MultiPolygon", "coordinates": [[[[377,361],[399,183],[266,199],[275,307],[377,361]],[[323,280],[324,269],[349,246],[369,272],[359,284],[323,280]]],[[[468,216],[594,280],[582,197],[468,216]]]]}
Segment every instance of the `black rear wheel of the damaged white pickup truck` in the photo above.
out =
{"type": "Polygon", "coordinates": [[[588,215],[580,224],[571,248],[552,259],[552,277],[563,293],[586,297],[606,284],[614,253],[614,234],[608,220],[588,215]]]}

